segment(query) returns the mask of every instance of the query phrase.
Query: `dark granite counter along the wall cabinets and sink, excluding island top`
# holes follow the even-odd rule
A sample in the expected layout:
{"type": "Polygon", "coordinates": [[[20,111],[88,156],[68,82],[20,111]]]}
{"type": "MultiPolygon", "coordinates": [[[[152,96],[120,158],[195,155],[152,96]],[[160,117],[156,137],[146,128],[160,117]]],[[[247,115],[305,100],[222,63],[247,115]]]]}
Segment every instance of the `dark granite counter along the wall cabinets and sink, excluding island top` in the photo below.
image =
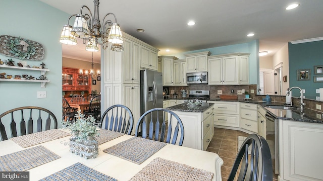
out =
{"type": "MultiPolygon", "coordinates": [[[[323,124],[323,115],[321,112],[305,109],[303,112],[301,110],[283,110],[283,109],[272,109],[268,108],[268,105],[275,105],[275,106],[284,106],[284,103],[278,102],[263,102],[261,100],[218,100],[218,99],[211,99],[210,101],[226,101],[226,102],[241,102],[241,103],[254,103],[262,106],[264,109],[270,111],[273,116],[278,119],[282,120],[289,120],[289,121],[302,121],[308,123],[320,123],[323,124]],[[317,118],[316,115],[320,114],[321,118],[317,118]]],[[[295,106],[297,107],[297,106],[295,106]]]]}

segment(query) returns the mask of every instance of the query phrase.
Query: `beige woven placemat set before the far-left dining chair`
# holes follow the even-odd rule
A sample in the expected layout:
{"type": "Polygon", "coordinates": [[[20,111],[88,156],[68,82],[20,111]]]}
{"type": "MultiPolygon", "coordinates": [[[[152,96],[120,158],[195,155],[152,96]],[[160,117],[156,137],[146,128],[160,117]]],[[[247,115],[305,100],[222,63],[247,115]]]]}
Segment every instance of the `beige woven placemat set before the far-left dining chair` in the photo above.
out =
{"type": "Polygon", "coordinates": [[[17,143],[19,146],[26,148],[29,146],[37,145],[47,141],[56,140],[71,135],[65,131],[58,129],[51,129],[46,131],[41,131],[37,133],[27,134],[23,136],[10,138],[12,141],[17,143]]]}

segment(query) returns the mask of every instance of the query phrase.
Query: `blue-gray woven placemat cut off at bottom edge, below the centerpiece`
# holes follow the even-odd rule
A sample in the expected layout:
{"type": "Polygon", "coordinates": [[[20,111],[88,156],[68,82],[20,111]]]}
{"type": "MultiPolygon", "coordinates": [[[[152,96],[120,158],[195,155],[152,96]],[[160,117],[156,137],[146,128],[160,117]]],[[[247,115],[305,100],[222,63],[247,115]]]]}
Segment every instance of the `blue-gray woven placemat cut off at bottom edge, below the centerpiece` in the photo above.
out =
{"type": "Polygon", "coordinates": [[[82,163],[75,163],[69,167],[66,167],[56,173],[46,176],[40,180],[111,180],[116,181],[116,178],[103,174],[99,171],[94,170],[82,163]]]}

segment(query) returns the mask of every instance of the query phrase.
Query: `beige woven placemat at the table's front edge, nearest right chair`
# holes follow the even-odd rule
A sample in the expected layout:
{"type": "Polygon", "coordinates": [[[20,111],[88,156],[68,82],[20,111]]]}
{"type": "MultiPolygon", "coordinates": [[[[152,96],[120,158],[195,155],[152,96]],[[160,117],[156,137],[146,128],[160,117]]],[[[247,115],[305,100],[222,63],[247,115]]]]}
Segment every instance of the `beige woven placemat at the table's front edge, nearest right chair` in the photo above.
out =
{"type": "Polygon", "coordinates": [[[153,159],[130,180],[212,180],[213,173],[163,158],[153,159]]]}

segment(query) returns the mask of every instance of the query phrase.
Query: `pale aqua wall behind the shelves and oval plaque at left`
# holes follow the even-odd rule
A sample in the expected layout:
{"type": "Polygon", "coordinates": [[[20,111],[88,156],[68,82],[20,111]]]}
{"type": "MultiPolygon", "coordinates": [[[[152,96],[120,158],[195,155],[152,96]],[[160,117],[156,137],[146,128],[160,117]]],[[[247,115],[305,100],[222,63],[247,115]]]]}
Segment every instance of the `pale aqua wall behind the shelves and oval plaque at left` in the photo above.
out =
{"type": "MultiPolygon", "coordinates": [[[[42,62],[50,71],[46,77],[50,82],[45,88],[39,82],[0,82],[0,113],[21,106],[39,106],[53,112],[62,119],[62,45],[58,42],[62,27],[68,14],[52,8],[38,0],[1,0],[0,35],[12,35],[41,43],[44,46],[44,59],[26,60],[30,66],[39,66],[42,62]],[[46,91],[45,99],[37,99],[37,91],[46,91]]],[[[2,60],[8,60],[1,55],[2,60]]],[[[18,58],[13,58],[15,65],[18,58]]],[[[0,68],[0,73],[12,75],[40,75],[38,71],[11,70],[0,68]]],[[[60,124],[59,124],[60,125],[60,124]]]]}

